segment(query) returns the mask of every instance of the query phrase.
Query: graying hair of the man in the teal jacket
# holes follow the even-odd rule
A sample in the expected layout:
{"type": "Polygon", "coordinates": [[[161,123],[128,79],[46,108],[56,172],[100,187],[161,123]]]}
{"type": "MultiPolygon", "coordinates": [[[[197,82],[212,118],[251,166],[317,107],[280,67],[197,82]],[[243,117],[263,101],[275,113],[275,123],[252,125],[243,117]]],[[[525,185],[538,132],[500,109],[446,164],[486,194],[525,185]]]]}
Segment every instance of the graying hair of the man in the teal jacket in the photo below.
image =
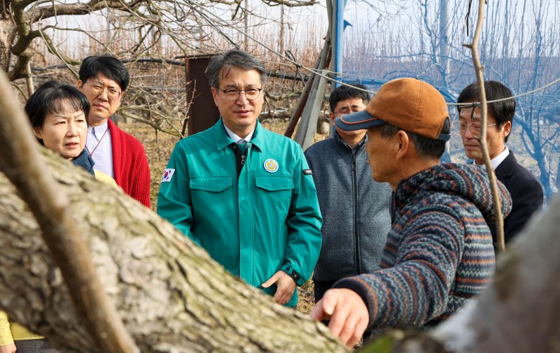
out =
{"type": "Polygon", "coordinates": [[[234,67],[258,71],[260,75],[260,83],[265,85],[265,82],[267,81],[265,65],[248,52],[234,49],[228,50],[227,52],[221,52],[210,60],[206,71],[210,87],[218,88],[220,85],[220,78],[227,76],[230,70],[234,67]]]}

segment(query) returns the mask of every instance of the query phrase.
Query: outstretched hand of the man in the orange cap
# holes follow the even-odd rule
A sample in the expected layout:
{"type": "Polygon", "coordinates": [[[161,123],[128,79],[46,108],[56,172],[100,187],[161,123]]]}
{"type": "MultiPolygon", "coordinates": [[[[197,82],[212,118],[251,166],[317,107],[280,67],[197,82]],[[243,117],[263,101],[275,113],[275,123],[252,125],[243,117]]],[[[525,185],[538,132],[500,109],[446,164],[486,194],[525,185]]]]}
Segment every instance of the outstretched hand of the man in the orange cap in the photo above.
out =
{"type": "Polygon", "coordinates": [[[353,347],[363,336],[370,315],[362,298],[351,289],[329,289],[311,310],[317,320],[330,319],[328,329],[348,347],[353,347]]]}

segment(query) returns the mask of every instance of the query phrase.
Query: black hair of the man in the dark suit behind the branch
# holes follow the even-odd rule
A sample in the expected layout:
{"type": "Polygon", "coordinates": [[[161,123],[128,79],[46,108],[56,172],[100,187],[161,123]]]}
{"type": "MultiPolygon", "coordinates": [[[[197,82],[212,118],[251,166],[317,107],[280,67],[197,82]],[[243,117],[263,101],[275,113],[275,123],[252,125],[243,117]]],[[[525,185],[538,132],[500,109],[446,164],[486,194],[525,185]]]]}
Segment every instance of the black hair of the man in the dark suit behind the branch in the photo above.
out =
{"type": "MultiPolygon", "coordinates": [[[[510,98],[513,96],[509,88],[497,81],[484,81],[484,91],[486,92],[487,101],[495,101],[496,99],[510,98]]],[[[461,94],[459,94],[457,103],[479,102],[480,94],[477,82],[472,82],[465,87],[461,94]]],[[[488,103],[488,112],[496,119],[496,127],[502,128],[505,122],[511,122],[513,126],[513,117],[515,115],[515,99],[506,99],[505,101],[498,101],[488,103]]],[[[461,109],[464,107],[457,106],[458,113],[461,114],[461,109]]],[[[505,136],[504,141],[507,142],[505,136]]]]}

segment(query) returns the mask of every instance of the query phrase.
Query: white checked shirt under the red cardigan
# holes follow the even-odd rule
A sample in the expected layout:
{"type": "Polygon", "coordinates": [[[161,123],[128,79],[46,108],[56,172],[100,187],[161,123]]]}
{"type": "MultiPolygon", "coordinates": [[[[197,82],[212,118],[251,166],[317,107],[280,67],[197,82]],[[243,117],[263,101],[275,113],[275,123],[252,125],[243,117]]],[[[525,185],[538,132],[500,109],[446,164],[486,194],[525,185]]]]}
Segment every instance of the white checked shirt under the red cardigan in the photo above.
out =
{"type": "Polygon", "coordinates": [[[111,146],[111,131],[109,124],[105,122],[97,127],[87,128],[87,140],[85,141],[87,152],[94,160],[93,168],[102,171],[111,178],[115,178],[113,172],[113,149],[111,146]]]}

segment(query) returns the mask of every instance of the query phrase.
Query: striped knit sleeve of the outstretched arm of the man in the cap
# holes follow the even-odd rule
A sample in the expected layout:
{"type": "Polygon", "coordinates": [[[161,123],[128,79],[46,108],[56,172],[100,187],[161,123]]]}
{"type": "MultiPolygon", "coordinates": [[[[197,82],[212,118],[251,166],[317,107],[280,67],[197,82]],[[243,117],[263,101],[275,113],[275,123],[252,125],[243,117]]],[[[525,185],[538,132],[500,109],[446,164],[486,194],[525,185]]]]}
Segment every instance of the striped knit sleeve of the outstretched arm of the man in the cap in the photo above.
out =
{"type": "Polygon", "coordinates": [[[447,307],[463,253],[461,223],[447,212],[425,208],[412,218],[416,222],[407,224],[394,250],[395,266],[335,283],[363,298],[372,329],[422,326],[447,307]]]}

